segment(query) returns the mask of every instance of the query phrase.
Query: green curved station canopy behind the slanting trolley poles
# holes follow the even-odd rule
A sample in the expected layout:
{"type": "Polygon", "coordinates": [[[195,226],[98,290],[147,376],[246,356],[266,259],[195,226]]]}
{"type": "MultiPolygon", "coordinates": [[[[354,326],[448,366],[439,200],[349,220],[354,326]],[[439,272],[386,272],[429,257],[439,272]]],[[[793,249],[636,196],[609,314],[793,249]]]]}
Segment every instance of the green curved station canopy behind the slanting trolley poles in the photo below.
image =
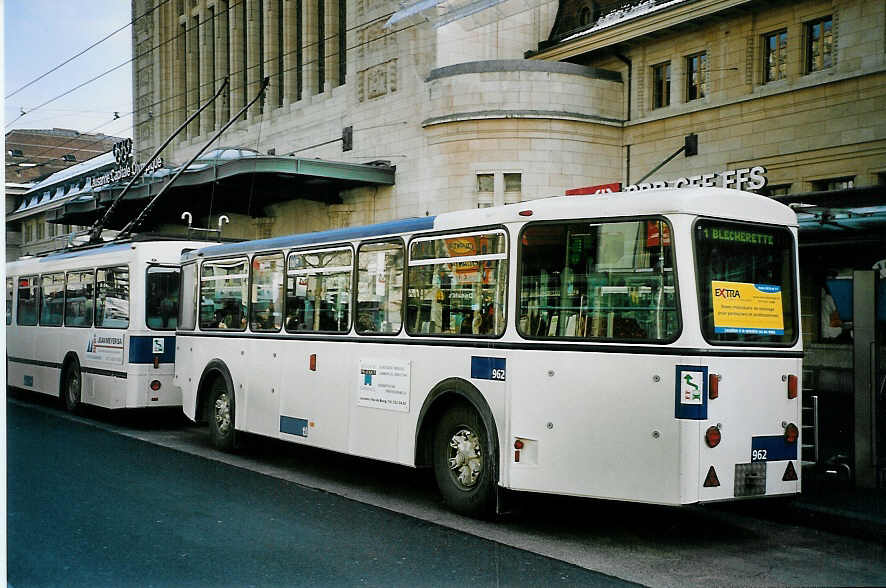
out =
{"type": "MultiPolygon", "coordinates": [[[[145,174],[124,196],[106,228],[120,229],[141,211],[180,168],[145,174]]],[[[290,200],[340,204],[343,190],[390,186],[396,169],[386,161],[348,163],[293,156],[263,155],[252,149],[213,149],[194,161],[156,203],[144,228],[218,214],[267,216],[269,205],[290,200]]],[[[49,214],[52,223],[90,225],[123,191],[128,180],[93,188],[49,214]]]]}

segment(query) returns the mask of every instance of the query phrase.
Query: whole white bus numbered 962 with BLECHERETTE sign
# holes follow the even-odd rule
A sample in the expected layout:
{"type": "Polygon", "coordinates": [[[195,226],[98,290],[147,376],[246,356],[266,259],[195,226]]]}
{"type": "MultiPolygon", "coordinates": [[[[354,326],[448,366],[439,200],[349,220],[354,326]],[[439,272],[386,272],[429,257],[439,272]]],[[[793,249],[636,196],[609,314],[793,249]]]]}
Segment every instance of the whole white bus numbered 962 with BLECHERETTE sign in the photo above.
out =
{"type": "Polygon", "coordinates": [[[236,431],[501,488],[800,490],[797,221],[722,189],[567,196],[182,258],[176,382],[236,431]]]}

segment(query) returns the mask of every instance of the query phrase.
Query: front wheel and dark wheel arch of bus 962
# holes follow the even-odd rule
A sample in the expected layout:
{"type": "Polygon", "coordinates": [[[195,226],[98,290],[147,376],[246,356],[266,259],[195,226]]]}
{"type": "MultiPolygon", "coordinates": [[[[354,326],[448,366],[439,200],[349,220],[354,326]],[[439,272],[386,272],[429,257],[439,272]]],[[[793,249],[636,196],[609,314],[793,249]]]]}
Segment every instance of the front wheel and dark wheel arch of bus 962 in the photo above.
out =
{"type": "Polygon", "coordinates": [[[219,449],[234,447],[236,405],[228,366],[219,359],[210,361],[200,376],[195,417],[198,423],[208,422],[210,439],[219,449]]]}

